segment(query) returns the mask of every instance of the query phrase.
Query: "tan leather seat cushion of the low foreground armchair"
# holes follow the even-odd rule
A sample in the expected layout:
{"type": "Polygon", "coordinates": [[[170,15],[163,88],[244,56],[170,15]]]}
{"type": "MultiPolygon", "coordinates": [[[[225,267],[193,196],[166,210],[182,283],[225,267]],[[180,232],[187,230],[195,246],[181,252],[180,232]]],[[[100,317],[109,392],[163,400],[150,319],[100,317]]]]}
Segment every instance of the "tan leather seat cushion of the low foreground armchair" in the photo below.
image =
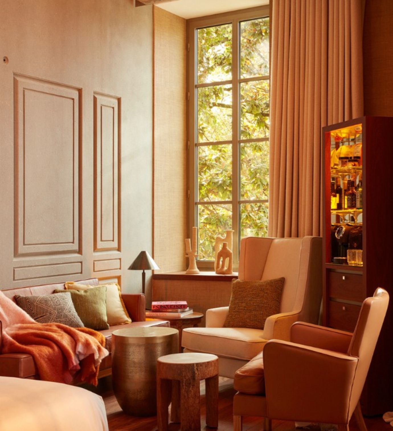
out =
{"type": "Polygon", "coordinates": [[[264,395],[265,373],[263,366],[263,352],[236,371],[233,387],[242,394],[264,395]]]}

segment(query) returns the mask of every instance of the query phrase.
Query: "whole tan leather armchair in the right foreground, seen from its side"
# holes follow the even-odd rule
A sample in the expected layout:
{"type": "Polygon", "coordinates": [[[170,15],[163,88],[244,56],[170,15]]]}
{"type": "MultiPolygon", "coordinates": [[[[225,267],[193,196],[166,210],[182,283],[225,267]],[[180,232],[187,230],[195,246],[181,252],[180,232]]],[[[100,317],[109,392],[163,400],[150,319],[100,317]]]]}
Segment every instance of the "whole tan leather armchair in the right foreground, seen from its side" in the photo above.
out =
{"type": "Polygon", "coordinates": [[[368,368],[389,303],[378,288],[366,298],[353,334],[297,322],[291,341],[270,340],[262,354],[236,372],[233,429],[242,416],[334,423],[349,430],[352,414],[366,431],[359,404],[368,368]]]}

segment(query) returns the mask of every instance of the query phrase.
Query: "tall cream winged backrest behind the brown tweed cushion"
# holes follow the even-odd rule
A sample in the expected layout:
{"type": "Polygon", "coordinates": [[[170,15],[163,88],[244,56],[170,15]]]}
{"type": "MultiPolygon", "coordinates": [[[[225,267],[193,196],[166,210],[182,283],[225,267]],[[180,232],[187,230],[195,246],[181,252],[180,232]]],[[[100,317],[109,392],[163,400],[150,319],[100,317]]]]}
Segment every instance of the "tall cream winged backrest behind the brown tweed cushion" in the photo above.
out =
{"type": "Polygon", "coordinates": [[[317,323],[322,298],[322,238],[243,238],[239,279],[285,277],[280,312],[298,311],[317,323]]]}

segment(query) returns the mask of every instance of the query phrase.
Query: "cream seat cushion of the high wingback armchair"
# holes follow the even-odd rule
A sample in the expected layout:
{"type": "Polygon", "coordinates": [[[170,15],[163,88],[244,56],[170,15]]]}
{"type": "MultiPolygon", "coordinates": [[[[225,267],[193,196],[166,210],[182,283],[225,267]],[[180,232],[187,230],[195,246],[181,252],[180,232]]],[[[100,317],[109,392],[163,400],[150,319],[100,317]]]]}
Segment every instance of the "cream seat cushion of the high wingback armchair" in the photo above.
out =
{"type": "Polygon", "coordinates": [[[261,352],[267,340],[262,329],[186,328],[181,345],[187,350],[249,361],[261,352]]]}

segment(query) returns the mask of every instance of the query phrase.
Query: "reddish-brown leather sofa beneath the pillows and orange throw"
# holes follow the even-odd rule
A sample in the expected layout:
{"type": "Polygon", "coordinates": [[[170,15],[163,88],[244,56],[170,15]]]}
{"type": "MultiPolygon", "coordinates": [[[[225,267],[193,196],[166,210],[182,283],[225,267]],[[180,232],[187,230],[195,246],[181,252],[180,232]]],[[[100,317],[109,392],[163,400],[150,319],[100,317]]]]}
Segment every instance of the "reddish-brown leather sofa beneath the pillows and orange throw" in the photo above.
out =
{"type": "MultiPolygon", "coordinates": [[[[78,281],[79,284],[98,285],[97,278],[78,281]]],[[[64,289],[64,283],[44,284],[40,286],[19,287],[16,289],[2,290],[3,294],[10,299],[14,299],[15,295],[49,295],[55,289],[64,289]]],[[[132,323],[125,325],[111,326],[101,332],[104,334],[106,343],[105,347],[109,351],[109,356],[101,362],[98,378],[110,375],[112,372],[112,356],[111,356],[111,335],[116,329],[130,328],[135,326],[167,326],[169,322],[165,320],[145,320],[145,296],[144,294],[122,294],[124,305],[132,320],[132,323]]],[[[19,377],[38,380],[37,367],[31,355],[25,353],[1,354],[2,348],[2,323],[0,321],[0,376],[4,377],[19,377]]]]}

